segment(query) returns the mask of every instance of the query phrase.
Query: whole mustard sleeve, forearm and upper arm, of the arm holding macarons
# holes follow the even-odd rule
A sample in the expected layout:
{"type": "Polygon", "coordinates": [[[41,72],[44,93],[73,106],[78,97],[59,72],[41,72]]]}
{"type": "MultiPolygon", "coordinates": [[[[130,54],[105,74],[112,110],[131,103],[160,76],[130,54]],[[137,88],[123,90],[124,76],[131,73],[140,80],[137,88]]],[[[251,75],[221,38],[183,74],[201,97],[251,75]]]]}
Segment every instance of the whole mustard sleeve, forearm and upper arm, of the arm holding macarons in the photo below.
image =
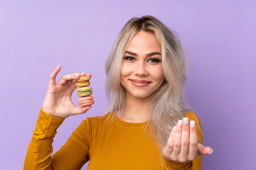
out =
{"type": "Polygon", "coordinates": [[[63,123],[62,118],[55,118],[41,109],[33,136],[24,162],[24,169],[81,169],[89,160],[90,128],[88,121],[83,121],[68,138],[68,141],[55,154],[53,137],[63,123]]]}

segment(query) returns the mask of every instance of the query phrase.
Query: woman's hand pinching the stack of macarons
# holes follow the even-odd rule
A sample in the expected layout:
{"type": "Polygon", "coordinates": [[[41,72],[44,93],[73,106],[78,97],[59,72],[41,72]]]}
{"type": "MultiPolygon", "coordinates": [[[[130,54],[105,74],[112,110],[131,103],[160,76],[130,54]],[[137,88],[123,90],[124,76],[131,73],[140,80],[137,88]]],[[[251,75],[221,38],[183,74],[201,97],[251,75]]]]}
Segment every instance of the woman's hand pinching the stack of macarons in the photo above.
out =
{"type": "MultiPolygon", "coordinates": [[[[60,72],[60,69],[61,67],[58,66],[50,74],[48,91],[43,101],[43,111],[58,118],[68,118],[70,115],[85,113],[92,106],[77,107],[71,99],[72,93],[76,89],[75,80],[85,77],[85,74],[75,73],[65,75],[56,84],[55,78],[58,72],[60,72]]],[[[87,76],[91,77],[90,74],[87,76]]]]}

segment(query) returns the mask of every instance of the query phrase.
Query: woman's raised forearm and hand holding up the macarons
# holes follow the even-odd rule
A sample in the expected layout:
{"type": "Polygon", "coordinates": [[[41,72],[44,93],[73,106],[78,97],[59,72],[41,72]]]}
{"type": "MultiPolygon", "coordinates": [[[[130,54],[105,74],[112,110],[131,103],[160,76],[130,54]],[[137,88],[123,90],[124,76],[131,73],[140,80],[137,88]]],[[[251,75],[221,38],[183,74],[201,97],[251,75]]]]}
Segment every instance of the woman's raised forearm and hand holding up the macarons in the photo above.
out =
{"type": "MultiPolygon", "coordinates": [[[[49,79],[48,91],[43,101],[43,108],[33,131],[31,144],[24,162],[24,169],[51,169],[53,152],[52,142],[57,128],[64,118],[70,115],[85,113],[92,106],[77,107],[73,104],[71,96],[75,90],[75,80],[84,77],[85,74],[67,74],[60,78],[56,84],[55,78],[61,67],[58,66],[49,79]]],[[[87,75],[91,77],[91,75],[87,75]]],[[[91,101],[90,104],[93,104],[91,101]]],[[[67,154],[67,153],[66,153],[67,154]]]]}

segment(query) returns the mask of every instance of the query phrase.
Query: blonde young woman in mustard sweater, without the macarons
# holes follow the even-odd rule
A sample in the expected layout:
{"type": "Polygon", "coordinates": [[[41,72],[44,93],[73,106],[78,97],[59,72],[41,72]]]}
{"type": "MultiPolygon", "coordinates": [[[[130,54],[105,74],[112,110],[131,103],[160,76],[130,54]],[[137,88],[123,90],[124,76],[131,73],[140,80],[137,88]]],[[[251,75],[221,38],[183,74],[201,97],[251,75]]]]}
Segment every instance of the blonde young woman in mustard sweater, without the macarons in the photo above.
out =
{"type": "Polygon", "coordinates": [[[70,115],[88,111],[71,101],[75,80],[55,83],[52,74],[24,169],[201,169],[201,125],[183,98],[186,56],[174,32],[152,16],[132,18],[119,33],[106,62],[108,112],[87,118],[52,154],[57,128],[70,115]]]}

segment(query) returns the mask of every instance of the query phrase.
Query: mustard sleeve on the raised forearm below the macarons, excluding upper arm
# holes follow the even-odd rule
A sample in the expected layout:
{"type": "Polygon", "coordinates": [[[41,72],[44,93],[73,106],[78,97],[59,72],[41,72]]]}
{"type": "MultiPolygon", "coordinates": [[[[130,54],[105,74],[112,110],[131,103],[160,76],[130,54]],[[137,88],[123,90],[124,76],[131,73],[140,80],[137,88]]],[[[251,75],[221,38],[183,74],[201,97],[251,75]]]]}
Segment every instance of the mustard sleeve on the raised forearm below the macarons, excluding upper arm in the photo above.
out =
{"type": "Polygon", "coordinates": [[[28,145],[23,169],[51,169],[53,137],[63,120],[50,116],[41,109],[31,143],[28,145]]]}

